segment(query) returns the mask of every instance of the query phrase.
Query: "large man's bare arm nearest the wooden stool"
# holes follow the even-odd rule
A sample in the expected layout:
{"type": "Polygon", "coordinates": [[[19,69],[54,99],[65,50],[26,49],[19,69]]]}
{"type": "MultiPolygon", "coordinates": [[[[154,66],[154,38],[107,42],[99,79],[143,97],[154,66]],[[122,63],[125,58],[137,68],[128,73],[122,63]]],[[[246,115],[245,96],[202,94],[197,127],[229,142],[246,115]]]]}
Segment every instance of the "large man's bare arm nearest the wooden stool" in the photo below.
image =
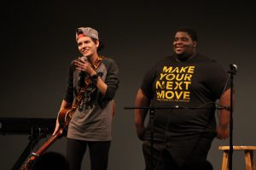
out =
{"type": "MultiPolygon", "coordinates": [[[[220,98],[220,105],[230,107],[230,89],[227,89],[220,98]]],[[[234,101],[234,98],[233,98],[234,101]]],[[[217,138],[226,139],[229,137],[229,124],[230,124],[230,110],[220,110],[219,122],[217,127],[217,138]]]]}

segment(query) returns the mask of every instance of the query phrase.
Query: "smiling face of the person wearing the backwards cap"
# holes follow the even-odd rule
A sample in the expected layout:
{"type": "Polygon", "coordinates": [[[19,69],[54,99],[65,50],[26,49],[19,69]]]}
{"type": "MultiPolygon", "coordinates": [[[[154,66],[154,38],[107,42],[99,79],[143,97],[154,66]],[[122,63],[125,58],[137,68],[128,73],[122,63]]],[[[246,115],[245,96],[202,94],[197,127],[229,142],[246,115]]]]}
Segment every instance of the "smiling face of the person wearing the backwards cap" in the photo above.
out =
{"type": "Polygon", "coordinates": [[[93,42],[90,37],[80,37],[78,39],[79,52],[86,57],[96,54],[99,41],[93,42]]]}

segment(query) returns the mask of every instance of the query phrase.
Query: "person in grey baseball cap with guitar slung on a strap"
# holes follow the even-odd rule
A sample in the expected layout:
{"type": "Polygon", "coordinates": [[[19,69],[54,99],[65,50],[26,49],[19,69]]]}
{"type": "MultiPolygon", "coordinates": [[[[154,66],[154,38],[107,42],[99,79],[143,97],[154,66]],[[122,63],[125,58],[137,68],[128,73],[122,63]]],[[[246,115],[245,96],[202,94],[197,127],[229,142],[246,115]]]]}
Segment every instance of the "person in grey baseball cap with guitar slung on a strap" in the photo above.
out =
{"type": "MultiPolygon", "coordinates": [[[[111,143],[113,98],[119,86],[119,70],[113,59],[97,53],[102,44],[95,29],[78,28],[76,41],[83,56],[74,59],[69,66],[67,91],[60,111],[74,105],[81,88],[85,86],[86,90],[68,125],[67,161],[71,170],[81,169],[88,146],[91,169],[106,170],[111,143]]],[[[59,128],[57,119],[53,135],[59,128]]]]}

